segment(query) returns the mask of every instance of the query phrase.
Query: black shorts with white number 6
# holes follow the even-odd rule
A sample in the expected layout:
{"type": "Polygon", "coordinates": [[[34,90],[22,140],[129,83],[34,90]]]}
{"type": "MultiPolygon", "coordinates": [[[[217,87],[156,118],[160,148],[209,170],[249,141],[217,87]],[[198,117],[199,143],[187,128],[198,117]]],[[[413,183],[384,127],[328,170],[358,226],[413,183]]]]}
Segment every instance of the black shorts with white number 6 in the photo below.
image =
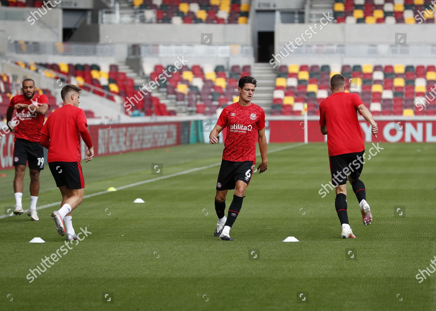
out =
{"type": "Polygon", "coordinates": [[[221,161],[219,169],[217,190],[232,190],[235,189],[236,181],[243,181],[247,185],[250,183],[253,167],[253,161],[221,161]]]}

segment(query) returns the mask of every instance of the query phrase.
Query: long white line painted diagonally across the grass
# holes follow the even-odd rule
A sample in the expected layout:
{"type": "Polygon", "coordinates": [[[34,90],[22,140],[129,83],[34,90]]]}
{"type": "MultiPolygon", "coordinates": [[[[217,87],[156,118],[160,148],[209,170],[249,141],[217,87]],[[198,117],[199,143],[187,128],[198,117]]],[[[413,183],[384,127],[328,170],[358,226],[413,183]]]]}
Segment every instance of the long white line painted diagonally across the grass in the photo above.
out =
{"type": "MultiPolygon", "coordinates": [[[[304,145],[304,143],[298,143],[298,144],[293,144],[293,145],[290,145],[290,146],[284,146],[284,147],[280,147],[280,148],[277,148],[277,149],[273,149],[273,150],[268,151],[268,154],[272,154],[274,152],[278,152],[278,151],[282,151],[282,150],[291,149],[291,148],[294,148],[294,147],[299,147],[301,145],[304,145]]],[[[260,154],[257,154],[257,156],[260,156],[260,154]]],[[[162,179],[167,179],[167,178],[176,177],[176,176],[180,176],[180,175],[186,175],[186,174],[193,173],[193,172],[196,172],[196,171],[206,170],[208,168],[215,167],[215,166],[218,166],[218,165],[221,165],[221,162],[218,162],[218,163],[215,163],[215,164],[206,165],[206,166],[191,168],[190,170],[181,171],[181,172],[178,172],[178,173],[174,173],[174,174],[170,174],[170,175],[166,175],[166,176],[162,176],[162,177],[156,177],[156,178],[152,178],[152,179],[147,179],[145,181],[138,181],[137,183],[127,184],[127,185],[118,187],[118,188],[116,188],[116,190],[117,191],[118,190],[123,190],[123,189],[127,189],[127,188],[130,188],[130,187],[139,186],[139,185],[142,185],[142,184],[152,183],[153,181],[160,181],[162,179]]],[[[92,194],[86,194],[86,195],[83,196],[83,198],[87,199],[89,197],[95,197],[96,195],[106,194],[106,193],[109,193],[109,192],[113,192],[113,191],[99,191],[99,192],[95,192],[95,193],[92,193],[92,194]]],[[[45,204],[45,205],[41,205],[41,206],[37,207],[36,209],[37,210],[42,210],[43,208],[47,208],[47,207],[59,206],[61,203],[62,203],[61,201],[58,201],[58,202],[54,202],[54,203],[50,203],[50,204],[45,204]]],[[[13,216],[13,215],[10,215],[10,214],[1,215],[0,219],[6,218],[6,217],[10,217],[10,216],[13,216]]]]}

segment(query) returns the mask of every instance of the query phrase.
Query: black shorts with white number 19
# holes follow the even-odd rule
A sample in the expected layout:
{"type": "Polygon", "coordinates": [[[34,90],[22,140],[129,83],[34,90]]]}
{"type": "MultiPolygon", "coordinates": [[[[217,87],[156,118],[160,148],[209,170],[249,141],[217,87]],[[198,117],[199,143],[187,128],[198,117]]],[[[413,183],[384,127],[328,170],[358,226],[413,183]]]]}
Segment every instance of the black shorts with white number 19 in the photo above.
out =
{"type": "Polygon", "coordinates": [[[44,170],[44,147],[39,142],[15,138],[14,165],[26,165],[32,170],[44,170]]]}

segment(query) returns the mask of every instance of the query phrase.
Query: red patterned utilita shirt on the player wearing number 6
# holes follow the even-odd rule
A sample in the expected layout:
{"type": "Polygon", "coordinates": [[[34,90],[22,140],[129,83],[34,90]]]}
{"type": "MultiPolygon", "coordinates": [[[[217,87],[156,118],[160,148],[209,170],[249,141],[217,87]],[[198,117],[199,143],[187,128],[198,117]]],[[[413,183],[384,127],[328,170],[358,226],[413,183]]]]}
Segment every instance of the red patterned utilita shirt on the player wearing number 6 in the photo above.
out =
{"type": "Polygon", "coordinates": [[[223,160],[256,161],[257,130],[265,127],[265,112],[251,103],[243,107],[238,102],[226,106],[218,118],[220,127],[227,127],[223,160]]]}

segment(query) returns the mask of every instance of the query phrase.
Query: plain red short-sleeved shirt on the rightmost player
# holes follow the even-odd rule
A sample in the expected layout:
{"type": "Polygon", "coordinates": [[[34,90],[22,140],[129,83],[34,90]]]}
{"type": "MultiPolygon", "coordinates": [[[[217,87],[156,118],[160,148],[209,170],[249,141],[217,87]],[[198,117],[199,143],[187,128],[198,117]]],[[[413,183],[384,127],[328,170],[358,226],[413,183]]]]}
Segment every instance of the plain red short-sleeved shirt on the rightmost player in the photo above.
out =
{"type": "Polygon", "coordinates": [[[320,126],[327,125],[328,155],[348,154],[365,149],[357,107],[363,104],[358,94],[338,92],[320,103],[320,126]]]}

